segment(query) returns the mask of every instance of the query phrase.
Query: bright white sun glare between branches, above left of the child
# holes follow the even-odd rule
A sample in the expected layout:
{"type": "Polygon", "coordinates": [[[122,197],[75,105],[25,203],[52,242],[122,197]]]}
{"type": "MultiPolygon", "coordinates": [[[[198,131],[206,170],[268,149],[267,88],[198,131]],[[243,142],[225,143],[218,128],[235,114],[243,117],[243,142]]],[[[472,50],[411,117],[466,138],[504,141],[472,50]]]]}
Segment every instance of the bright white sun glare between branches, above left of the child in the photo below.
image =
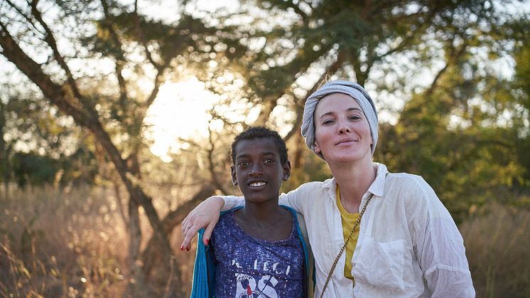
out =
{"type": "Polygon", "coordinates": [[[146,137],[153,141],[151,153],[170,162],[169,154],[181,146],[179,138],[207,137],[211,119],[207,111],[217,100],[197,79],[162,85],[146,117],[146,137]]]}

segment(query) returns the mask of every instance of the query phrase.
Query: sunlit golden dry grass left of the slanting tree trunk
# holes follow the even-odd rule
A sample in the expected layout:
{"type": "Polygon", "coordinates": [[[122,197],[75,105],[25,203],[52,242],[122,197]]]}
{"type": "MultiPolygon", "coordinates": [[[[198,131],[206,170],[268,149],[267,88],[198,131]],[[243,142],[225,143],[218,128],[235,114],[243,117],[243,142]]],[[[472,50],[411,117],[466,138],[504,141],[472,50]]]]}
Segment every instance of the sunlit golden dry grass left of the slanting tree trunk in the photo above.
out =
{"type": "Polygon", "coordinates": [[[108,198],[38,188],[0,199],[0,297],[119,297],[126,238],[108,198]]]}

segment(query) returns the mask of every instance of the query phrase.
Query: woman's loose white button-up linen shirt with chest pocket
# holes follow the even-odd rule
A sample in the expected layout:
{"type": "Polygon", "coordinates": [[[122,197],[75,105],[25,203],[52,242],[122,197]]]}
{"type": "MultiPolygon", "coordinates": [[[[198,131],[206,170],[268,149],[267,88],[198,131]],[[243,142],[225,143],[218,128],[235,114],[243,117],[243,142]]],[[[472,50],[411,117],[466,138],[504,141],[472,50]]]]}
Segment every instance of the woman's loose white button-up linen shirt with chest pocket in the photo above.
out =
{"type": "MultiPolygon", "coordinates": [[[[344,277],[343,253],[324,297],[475,297],[463,238],[431,186],[416,175],[386,176],[386,166],[375,165],[376,179],[360,204],[374,194],[352,257],[355,287],[344,277]]],[[[279,201],[304,216],[315,257],[315,297],[344,245],[335,189],[335,179],[304,183],[279,201]]],[[[241,197],[223,198],[223,209],[242,204],[241,197]]]]}

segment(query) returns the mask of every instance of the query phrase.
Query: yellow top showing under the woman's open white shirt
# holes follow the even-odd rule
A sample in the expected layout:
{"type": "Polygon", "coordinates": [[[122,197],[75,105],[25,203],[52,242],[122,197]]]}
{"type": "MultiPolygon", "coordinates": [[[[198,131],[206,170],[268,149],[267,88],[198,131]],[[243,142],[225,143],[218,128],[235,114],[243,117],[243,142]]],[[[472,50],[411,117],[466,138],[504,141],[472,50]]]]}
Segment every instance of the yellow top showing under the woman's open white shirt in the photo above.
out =
{"type": "MultiPolygon", "coordinates": [[[[352,232],[353,225],[355,224],[355,221],[359,217],[359,213],[349,213],[340,202],[340,191],[339,191],[339,185],[337,184],[337,206],[339,207],[340,211],[340,218],[342,221],[342,235],[344,237],[344,241],[348,238],[350,233],[352,232]]],[[[352,277],[352,256],[353,251],[355,250],[355,245],[357,245],[357,239],[359,238],[359,227],[355,229],[355,232],[352,234],[352,238],[350,238],[350,241],[348,241],[346,245],[346,264],[344,265],[344,276],[346,278],[349,278],[350,280],[353,280],[352,277]]]]}

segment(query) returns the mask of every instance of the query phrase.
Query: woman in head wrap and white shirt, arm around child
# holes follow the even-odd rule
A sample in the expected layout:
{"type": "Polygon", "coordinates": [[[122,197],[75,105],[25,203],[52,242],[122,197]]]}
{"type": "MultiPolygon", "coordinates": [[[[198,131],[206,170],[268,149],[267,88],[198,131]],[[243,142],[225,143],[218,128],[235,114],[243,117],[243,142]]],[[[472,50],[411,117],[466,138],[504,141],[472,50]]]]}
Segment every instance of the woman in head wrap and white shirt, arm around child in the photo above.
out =
{"type": "MultiPolygon", "coordinates": [[[[431,186],[372,161],[377,111],[360,85],[338,80],[310,95],[302,135],[333,178],[305,183],[279,203],[304,215],[316,297],[475,296],[462,236],[431,186]]],[[[207,241],[220,208],[241,203],[201,203],[183,221],[182,248],[202,227],[207,241]]]]}

